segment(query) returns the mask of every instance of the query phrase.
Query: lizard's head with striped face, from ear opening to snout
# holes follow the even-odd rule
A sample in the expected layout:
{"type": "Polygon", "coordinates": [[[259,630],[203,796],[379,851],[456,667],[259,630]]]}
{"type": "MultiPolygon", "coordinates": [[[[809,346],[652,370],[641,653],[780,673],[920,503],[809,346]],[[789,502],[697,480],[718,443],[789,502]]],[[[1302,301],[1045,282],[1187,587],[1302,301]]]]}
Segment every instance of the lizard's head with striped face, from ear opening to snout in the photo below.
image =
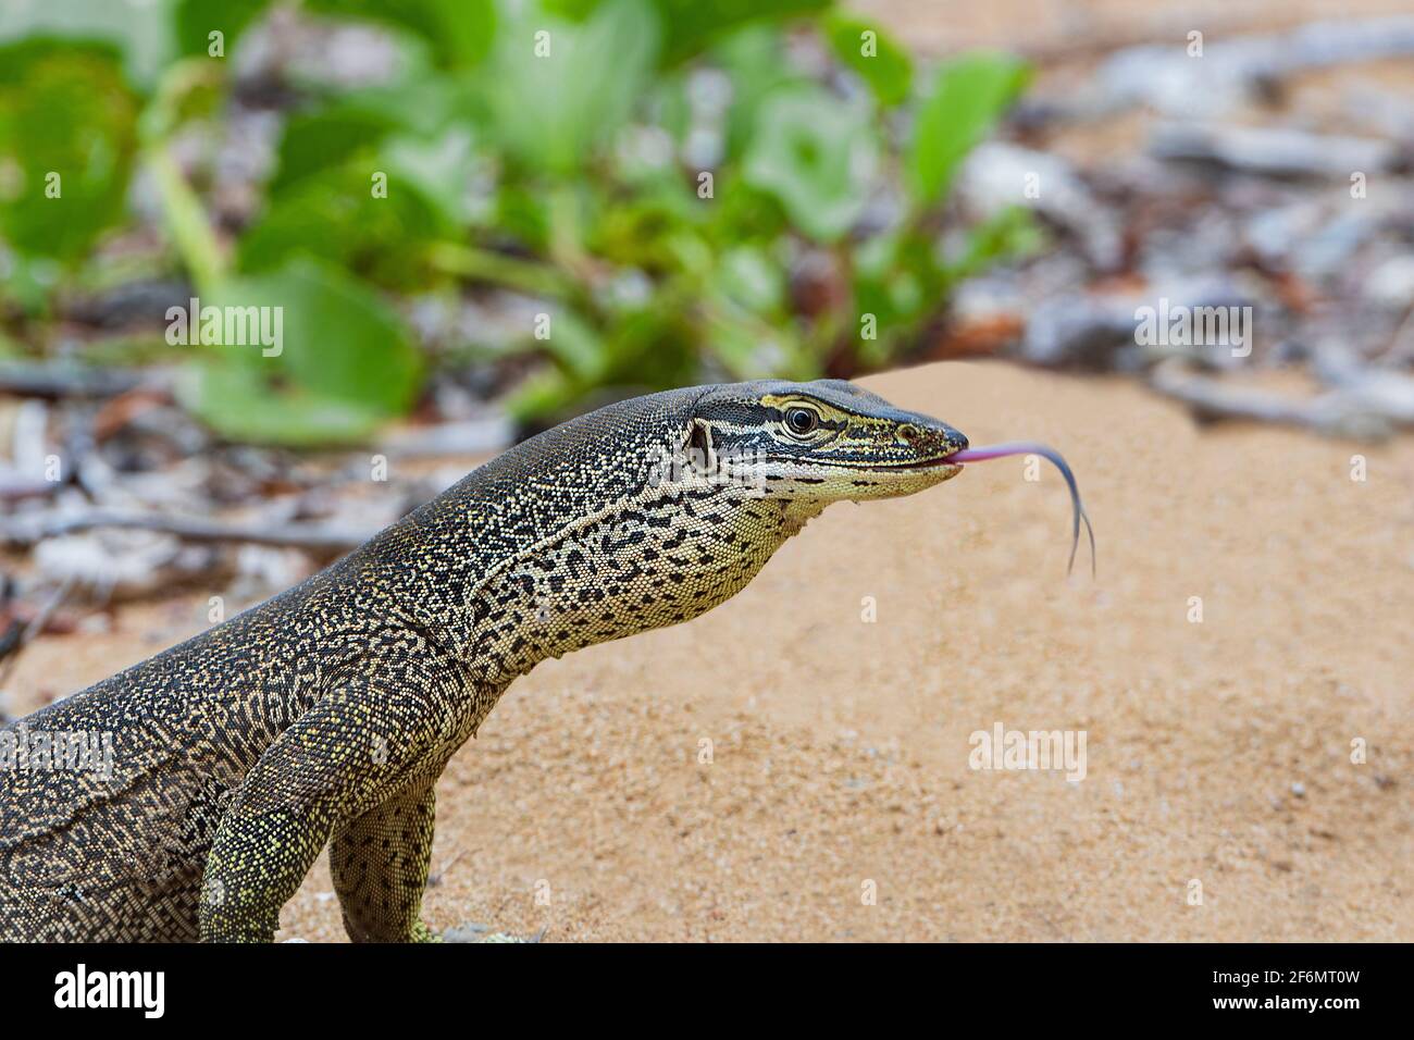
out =
{"type": "Polygon", "coordinates": [[[827,505],[895,498],[962,471],[967,437],[843,379],[727,383],[697,400],[684,447],[768,498],[827,505]]]}

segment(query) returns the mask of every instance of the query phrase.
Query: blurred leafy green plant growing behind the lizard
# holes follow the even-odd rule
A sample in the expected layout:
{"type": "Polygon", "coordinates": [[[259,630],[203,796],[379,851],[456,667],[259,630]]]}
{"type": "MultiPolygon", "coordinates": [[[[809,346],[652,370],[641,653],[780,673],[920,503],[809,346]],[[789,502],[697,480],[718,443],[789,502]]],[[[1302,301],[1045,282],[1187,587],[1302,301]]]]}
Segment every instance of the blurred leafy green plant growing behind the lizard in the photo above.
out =
{"type": "Polygon", "coordinates": [[[921,79],[826,0],[304,0],[305,18],[378,25],[400,62],[370,88],[296,83],[263,202],[232,238],[175,144],[219,125],[225,55],[270,4],[154,0],[132,20],[112,6],[49,0],[0,37],[0,238],[16,253],[0,303],[42,316],[83,277],[132,222],[144,168],[167,260],[202,301],[284,308],[279,357],[188,348],[182,400],[230,437],[356,440],[404,413],[436,364],[402,314],[417,293],[539,301],[515,342],[468,344],[540,359],[508,400],[533,419],[605,388],[889,364],[959,277],[1035,243],[1015,209],[960,255],[939,248],[957,166],[1025,65],[973,54],[921,79]],[[797,67],[792,34],[854,89],[797,67]],[[45,207],[51,170],[65,191],[45,207]],[[810,291],[802,266],[824,272],[810,291]]]}

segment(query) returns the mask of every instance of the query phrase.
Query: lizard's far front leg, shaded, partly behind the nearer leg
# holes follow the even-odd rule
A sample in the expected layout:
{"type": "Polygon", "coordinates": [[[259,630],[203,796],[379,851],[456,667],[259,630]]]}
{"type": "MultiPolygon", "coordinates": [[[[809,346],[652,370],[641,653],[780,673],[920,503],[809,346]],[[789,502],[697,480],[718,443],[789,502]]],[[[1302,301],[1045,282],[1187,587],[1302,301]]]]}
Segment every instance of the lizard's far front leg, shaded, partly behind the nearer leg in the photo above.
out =
{"type": "Polygon", "coordinates": [[[421,923],[437,795],[413,787],[335,831],[329,870],[355,942],[431,942],[421,923]]]}

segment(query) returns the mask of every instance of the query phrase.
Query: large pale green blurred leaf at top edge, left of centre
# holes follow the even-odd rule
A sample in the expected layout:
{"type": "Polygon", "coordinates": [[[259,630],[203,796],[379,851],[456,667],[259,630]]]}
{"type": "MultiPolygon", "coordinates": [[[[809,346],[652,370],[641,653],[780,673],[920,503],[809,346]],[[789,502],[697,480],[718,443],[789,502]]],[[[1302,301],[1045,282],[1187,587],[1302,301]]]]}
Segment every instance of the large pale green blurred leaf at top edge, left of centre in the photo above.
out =
{"type": "Polygon", "coordinates": [[[648,91],[656,57],[643,0],[609,0],[583,23],[522,13],[484,78],[496,143],[532,170],[580,170],[648,91]]]}

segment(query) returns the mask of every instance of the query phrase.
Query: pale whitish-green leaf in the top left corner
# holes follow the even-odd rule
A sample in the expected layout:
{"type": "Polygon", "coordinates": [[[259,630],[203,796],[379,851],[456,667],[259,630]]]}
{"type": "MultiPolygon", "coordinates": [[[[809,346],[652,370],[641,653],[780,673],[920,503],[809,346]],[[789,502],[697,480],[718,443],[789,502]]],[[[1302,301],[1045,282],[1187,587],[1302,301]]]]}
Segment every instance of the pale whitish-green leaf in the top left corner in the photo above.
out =
{"type": "MultiPolygon", "coordinates": [[[[140,86],[171,62],[174,0],[4,0],[0,44],[17,40],[103,42],[140,86]]],[[[0,64],[4,64],[0,59],[0,64]]]]}

